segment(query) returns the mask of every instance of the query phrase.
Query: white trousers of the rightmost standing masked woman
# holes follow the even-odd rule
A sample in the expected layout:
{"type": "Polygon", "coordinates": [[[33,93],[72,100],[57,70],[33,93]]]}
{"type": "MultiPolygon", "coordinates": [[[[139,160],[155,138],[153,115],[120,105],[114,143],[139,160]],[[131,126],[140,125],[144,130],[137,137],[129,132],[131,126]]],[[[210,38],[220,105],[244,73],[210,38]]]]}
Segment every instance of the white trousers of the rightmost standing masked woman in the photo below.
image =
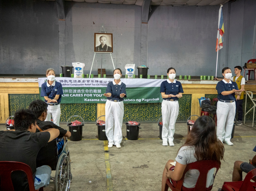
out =
{"type": "Polygon", "coordinates": [[[220,102],[217,104],[217,138],[221,141],[230,141],[236,114],[235,101],[220,102]]]}

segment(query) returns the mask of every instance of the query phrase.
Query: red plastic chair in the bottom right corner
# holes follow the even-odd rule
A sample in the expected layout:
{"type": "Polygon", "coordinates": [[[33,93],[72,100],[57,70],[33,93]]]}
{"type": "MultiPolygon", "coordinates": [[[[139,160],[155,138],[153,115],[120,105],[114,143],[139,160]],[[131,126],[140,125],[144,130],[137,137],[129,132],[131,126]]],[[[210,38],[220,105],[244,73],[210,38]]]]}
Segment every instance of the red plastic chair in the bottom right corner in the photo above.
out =
{"type": "Polygon", "coordinates": [[[255,176],[256,168],[247,173],[244,181],[224,182],[221,191],[255,191],[256,182],[251,182],[255,176]]]}

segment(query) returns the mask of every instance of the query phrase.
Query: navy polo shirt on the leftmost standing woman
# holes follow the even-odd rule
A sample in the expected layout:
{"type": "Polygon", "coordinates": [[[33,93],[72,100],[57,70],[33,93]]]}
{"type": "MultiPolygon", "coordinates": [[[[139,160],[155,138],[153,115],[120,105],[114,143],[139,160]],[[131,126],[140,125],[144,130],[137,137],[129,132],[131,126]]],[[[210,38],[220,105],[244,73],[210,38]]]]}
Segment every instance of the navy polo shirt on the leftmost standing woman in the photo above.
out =
{"type": "MultiPolygon", "coordinates": [[[[48,81],[46,81],[42,84],[41,97],[48,96],[50,99],[54,99],[56,95],[59,95],[59,99],[57,99],[57,102],[60,103],[61,95],[63,95],[61,83],[54,81],[53,84],[50,86],[50,84],[48,84],[48,81]]],[[[45,102],[47,101],[45,100],[45,102]]]]}

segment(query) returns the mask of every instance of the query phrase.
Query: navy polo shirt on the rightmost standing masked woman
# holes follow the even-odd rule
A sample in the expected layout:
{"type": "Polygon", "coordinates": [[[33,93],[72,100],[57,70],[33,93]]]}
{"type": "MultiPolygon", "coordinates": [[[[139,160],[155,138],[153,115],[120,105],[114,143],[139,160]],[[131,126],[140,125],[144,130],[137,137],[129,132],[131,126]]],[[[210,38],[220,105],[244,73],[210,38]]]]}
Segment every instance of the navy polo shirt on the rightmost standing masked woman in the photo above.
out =
{"type": "Polygon", "coordinates": [[[221,92],[224,91],[231,91],[233,89],[239,90],[236,82],[233,82],[230,80],[229,83],[227,83],[224,79],[219,81],[216,90],[218,91],[218,99],[224,100],[224,101],[231,101],[236,100],[235,93],[229,94],[229,95],[222,95],[221,92]]]}

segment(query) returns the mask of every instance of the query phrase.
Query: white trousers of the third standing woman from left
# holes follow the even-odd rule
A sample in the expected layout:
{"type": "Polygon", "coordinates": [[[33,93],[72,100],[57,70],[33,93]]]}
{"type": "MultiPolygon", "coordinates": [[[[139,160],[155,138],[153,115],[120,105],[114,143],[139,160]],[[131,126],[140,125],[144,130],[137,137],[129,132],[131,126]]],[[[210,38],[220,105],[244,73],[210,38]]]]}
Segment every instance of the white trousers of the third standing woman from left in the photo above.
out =
{"type": "Polygon", "coordinates": [[[163,117],[163,128],[162,128],[162,139],[163,141],[173,142],[173,135],[175,132],[175,123],[179,113],[178,101],[171,102],[163,100],[162,102],[162,117],[163,117]]]}

